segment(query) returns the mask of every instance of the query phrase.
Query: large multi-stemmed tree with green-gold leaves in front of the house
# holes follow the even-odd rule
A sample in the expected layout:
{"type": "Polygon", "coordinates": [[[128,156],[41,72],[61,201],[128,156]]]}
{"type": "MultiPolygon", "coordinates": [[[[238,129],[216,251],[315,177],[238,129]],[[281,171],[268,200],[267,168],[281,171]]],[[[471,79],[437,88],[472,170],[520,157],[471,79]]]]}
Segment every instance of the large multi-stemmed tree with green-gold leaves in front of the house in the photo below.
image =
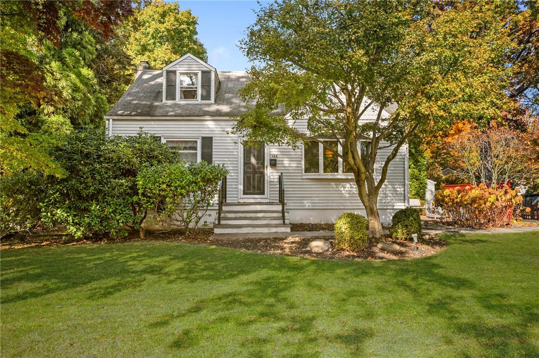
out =
{"type": "Polygon", "coordinates": [[[234,131],[247,144],[333,137],[354,173],[369,238],[391,161],[419,131],[499,116],[512,48],[509,3],[284,0],[262,6],[240,48],[256,63],[241,94],[255,104],[234,131]],[[390,116],[384,108],[397,103],[390,116]],[[375,120],[368,122],[368,116],[375,120]],[[307,119],[308,133],[295,122],[307,119]],[[369,145],[360,146],[366,140],[369,145]],[[386,148],[391,152],[381,157],[386,148]],[[375,163],[382,166],[376,169],[375,163]]]}

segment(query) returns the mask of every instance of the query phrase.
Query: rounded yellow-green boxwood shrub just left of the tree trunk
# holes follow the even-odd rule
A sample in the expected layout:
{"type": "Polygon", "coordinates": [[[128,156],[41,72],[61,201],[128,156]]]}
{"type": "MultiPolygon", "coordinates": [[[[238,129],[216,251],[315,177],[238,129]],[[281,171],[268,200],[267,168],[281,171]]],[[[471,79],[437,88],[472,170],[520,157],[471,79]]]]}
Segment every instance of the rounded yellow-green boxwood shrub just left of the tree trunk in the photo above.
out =
{"type": "Polygon", "coordinates": [[[343,213],[335,221],[335,248],[360,251],[367,248],[368,221],[354,212],[343,213]]]}

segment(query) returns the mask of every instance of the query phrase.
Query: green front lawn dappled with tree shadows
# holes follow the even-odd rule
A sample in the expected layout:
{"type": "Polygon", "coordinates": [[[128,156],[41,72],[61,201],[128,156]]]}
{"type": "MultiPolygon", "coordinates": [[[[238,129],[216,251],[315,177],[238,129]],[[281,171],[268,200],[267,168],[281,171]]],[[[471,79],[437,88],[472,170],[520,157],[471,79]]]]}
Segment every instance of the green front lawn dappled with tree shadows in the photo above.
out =
{"type": "Polygon", "coordinates": [[[355,262],[169,242],[3,250],[2,356],[539,356],[539,233],[355,262]]]}

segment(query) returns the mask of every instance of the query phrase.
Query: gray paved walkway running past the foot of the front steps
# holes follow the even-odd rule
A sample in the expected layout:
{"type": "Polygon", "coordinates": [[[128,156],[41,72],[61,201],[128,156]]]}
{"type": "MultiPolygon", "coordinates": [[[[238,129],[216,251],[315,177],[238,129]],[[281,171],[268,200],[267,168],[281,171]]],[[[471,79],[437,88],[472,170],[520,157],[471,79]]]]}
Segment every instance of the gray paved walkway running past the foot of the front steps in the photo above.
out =
{"type": "MultiPolygon", "coordinates": [[[[441,234],[515,234],[519,232],[539,231],[539,226],[522,227],[502,227],[492,229],[471,229],[452,226],[438,226],[436,228],[424,229],[422,237],[437,237],[441,234]]],[[[384,230],[384,234],[389,235],[389,231],[384,230]]],[[[270,239],[270,238],[291,238],[291,237],[333,237],[333,231],[292,231],[292,232],[260,232],[260,233],[240,233],[240,234],[213,234],[211,239],[270,239]]]]}

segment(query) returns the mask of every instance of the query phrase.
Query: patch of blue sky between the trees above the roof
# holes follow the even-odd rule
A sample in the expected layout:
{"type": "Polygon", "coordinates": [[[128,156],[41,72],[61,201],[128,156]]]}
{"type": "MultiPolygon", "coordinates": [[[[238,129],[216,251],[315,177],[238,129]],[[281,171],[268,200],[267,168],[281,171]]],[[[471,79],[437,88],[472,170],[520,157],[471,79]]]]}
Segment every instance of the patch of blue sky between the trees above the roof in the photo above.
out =
{"type": "Polygon", "coordinates": [[[208,50],[208,63],[218,71],[243,71],[250,67],[237,47],[248,25],[254,23],[255,1],[179,1],[181,10],[198,17],[198,38],[208,50]]]}

